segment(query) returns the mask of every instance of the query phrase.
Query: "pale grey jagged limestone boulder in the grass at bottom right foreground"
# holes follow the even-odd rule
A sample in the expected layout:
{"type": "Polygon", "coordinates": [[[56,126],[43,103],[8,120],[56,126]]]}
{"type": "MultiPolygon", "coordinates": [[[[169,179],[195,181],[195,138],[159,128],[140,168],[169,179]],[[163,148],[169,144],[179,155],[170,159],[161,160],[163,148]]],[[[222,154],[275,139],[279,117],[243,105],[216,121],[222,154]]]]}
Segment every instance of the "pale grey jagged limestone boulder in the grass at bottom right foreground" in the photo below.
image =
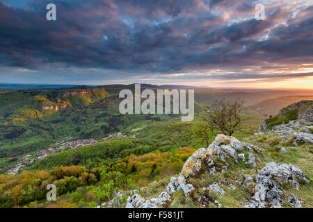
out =
{"type": "Polygon", "coordinates": [[[255,177],[257,183],[255,194],[245,207],[280,207],[283,194],[281,186],[289,183],[298,191],[296,178],[309,182],[298,167],[292,164],[269,162],[255,177]]]}

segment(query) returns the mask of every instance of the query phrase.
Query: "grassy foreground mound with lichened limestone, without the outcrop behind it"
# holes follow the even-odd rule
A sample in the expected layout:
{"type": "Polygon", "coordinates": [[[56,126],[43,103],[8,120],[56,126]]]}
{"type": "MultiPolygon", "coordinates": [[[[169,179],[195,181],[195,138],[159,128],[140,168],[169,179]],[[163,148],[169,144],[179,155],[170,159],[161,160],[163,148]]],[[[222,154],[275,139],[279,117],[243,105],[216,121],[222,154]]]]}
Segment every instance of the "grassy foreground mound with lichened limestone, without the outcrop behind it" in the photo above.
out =
{"type": "Polygon", "coordinates": [[[170,178],[166,191],[144,198],[151,196],[145,187],[131,191],[126,202],[122,200],[125,194],[119,192],[98,207],[182,207],[183,199],[195,207],[303,207],[304,203],[309,207],[309,180],[293,164],[268,162],[257,146],[218,135],[208,148],[198,149],[186,160],[179,176],[170,178]]]}

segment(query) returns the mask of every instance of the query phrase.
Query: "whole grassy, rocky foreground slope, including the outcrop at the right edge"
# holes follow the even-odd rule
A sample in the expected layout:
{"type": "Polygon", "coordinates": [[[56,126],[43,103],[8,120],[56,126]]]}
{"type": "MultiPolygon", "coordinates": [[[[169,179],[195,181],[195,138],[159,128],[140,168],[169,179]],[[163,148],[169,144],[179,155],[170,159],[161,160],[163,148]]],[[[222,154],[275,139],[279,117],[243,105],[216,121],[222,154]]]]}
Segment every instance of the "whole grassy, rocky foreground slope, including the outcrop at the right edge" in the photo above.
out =
{"type": "Polygon", "coordinates": [[[261,132],[249,139],[262,148],[218,135],[208,148],[198,149],[186,160],[179,176],[170,178],[166,191],[159,196],[143,198],[134,194],[126,203],[116,196],[99,207],[111,207],[114,201],[130,208],[177,207],[182,205],[182,199],[195,207],[230,207],[232,201],[235,207],[310,207],[312,104],[313,101],[300,101],[266,119],[261,132]],[[177,191],[185,197],[177,196],[177,191]]]}

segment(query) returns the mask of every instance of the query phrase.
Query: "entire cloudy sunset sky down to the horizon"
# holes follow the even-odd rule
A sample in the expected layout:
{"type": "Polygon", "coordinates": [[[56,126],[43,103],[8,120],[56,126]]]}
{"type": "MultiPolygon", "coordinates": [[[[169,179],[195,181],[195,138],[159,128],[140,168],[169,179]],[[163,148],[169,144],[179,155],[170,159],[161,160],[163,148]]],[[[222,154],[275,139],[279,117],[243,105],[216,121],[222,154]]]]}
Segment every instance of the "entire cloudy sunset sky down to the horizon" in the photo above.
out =
{"type": "Polygon", "coordinates": [[[312,13],[309,0],[0,0],[0,83],[313,88],[312,13]]]}

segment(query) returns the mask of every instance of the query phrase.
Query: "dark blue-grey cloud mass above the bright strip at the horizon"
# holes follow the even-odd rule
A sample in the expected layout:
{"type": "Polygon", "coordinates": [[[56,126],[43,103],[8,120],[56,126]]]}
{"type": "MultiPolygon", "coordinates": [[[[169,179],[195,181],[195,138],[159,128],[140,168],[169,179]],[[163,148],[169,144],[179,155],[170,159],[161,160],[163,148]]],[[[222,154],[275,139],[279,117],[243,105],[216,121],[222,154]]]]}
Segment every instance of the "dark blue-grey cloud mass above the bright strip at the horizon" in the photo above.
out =
{"type": "Polygon", "coordinates": [[[57,21],[48,22],[50,2],[0,2],[0,67],[127,76],[312,62],[312,6],[264,1],[257,21],[258,1],[54,0],[57,21]]]}

